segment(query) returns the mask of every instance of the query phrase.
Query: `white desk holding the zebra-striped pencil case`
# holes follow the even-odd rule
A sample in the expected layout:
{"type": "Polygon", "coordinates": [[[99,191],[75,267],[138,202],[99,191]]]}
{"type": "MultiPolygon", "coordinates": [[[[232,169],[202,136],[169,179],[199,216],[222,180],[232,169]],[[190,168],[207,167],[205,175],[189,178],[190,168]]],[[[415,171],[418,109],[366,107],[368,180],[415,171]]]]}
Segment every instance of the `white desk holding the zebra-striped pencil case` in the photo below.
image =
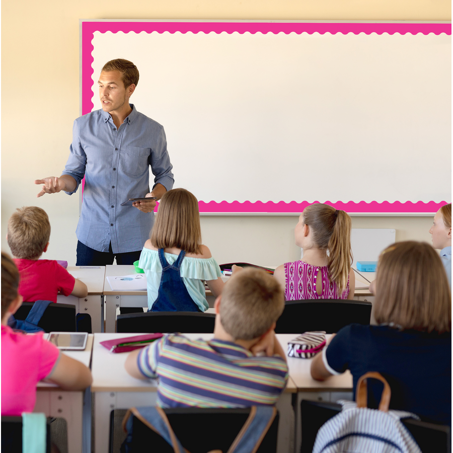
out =
{"type": "MultiPolygon", "coordinates": [[[[300,334],[278,334],[277,339],[284,351],[287,350],[288,341],[300,334]]],[[[329,338],[330,335],[327,335],[329,338]]],[[[300,401],[332,401],[339,399],[352,400],[352,374],[347,370],[343,374],[331,376],[326,381],[315,381],[310,373],[313,358],[304,359],[287,357],[289,375],[297,387],[296,407],[294,408],[295,440],[294,451],[300,451],[301,444],[301,414],[300,401]]]]}

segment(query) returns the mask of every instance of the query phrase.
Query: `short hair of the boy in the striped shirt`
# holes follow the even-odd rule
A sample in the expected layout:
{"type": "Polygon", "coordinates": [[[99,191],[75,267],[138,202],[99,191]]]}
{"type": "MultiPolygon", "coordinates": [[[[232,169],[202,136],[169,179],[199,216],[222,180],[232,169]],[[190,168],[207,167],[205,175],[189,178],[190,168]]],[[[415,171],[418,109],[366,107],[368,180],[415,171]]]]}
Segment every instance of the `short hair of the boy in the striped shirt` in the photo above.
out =
{"type": "Polygon", "coordinates": [[[280,283],[250,267],[231,277],[223,287],[220,322],[235,340],[252,340],[265,334],[284,308],[280,283]]]}

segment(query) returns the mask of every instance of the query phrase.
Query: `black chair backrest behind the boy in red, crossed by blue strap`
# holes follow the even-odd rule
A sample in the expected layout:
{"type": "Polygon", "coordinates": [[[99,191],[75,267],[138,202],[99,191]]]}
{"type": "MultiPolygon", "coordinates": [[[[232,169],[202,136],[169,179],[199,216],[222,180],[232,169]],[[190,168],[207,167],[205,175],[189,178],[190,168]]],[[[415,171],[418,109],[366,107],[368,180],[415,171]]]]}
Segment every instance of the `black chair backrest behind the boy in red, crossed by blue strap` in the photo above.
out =
{"type": "MultiPolygon", "coordinates": [[[[16,319],[27,318],[33,304],[33,302],[24,302],[14,317],[16,319]]],[[[50,304],[42,315],[38,327],[44,329],[45,332],[75,332],[75,305],[50,304]]]]}

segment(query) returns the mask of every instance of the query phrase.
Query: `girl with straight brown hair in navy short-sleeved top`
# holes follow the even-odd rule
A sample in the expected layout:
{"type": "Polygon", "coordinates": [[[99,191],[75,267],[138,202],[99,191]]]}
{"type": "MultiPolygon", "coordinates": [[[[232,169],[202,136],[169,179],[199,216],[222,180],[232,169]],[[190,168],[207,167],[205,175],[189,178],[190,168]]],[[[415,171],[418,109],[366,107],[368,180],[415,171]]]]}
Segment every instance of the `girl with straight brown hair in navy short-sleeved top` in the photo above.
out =
{"type": "MultiPolygon", "coordinates": [[[[390,384],[391,409],[451,426],[451,295],[433,248],[411,241],[384,250],[373,305],[379,325],[341,329],[313,359],[313,378],[350,369],[355,393],[361,375],[378,371],[390,384]]],[[[377,407],[379,387],[371,380],[368,387],[377,407]]]]}

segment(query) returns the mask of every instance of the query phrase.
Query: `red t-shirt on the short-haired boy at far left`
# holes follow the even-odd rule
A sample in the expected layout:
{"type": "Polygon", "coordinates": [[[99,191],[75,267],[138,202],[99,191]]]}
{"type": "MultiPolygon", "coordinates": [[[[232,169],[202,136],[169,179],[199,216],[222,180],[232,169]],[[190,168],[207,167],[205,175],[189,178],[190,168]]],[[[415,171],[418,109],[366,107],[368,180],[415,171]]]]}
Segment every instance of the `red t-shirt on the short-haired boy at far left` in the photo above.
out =
{"type": "Polygon", "coordinates": [[[69,295],[74,289],[75,278],[55,260],[16,258],[14,262],[21,276],[18,291],[24,302],[56,302],[58,291],[69,295]]]}

